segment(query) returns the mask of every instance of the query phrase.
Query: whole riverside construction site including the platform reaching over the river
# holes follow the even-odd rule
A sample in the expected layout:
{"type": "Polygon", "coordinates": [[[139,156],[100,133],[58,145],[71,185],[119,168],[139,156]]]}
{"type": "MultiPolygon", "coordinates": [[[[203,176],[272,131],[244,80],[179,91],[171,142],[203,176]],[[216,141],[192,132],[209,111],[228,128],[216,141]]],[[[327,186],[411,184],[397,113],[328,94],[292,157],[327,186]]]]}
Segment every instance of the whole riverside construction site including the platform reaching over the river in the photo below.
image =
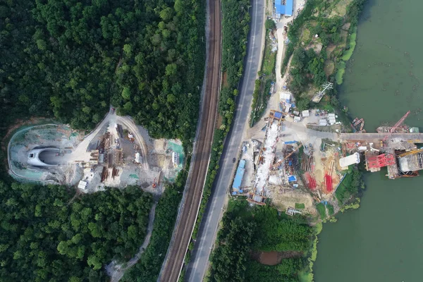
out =
{"type": "Polygon", "coordinates": [[[271,110],[247,133],[231,193],[246,196],[251,204],[264,205],[269,199],[291,216],[316,214],[316,202],[339,208],[333,193],[348,168],[362,161],[367,171],[386,167],[390,179],[418,176],[423,148],[416,144],[423,143],[423,134],[403,124],[409,114],[392,127],[377,128],[377,133],[367,133],[364,120],[355,118],[350,124],[354,132],[340,133],[308,128],[317,122],[321,128],[335,125],[335,114],[318,109],[295,114],[271,110]]]}

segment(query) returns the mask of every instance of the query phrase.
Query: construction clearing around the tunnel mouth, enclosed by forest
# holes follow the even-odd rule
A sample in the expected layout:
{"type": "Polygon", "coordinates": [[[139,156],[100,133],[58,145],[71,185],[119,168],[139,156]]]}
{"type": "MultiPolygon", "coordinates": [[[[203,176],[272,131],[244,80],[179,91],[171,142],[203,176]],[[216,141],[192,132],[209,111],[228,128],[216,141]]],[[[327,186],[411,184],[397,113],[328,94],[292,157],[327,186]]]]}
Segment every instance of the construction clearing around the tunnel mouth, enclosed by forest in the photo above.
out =
{"type": "Polygon", "coordinates": [[[90,134],[67,125],[19,129],[8,145],[11,175],[20,181],[75,185],[81,192],[138,185],[160,194],[183,167],[178,140],[153,140],[114,109],[90,134]]]}

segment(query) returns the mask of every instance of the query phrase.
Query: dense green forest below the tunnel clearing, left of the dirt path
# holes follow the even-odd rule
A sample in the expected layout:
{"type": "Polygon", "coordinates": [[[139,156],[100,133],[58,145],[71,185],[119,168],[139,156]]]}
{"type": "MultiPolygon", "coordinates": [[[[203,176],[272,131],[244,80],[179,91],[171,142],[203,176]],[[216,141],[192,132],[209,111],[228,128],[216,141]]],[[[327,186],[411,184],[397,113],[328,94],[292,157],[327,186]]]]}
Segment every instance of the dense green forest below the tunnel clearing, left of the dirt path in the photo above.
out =
{"type": "Polygon", "coordinates": [[[0,281],[106,281],[103,266],[142,244],[152,195],[0,182],[0,205],[0,281]]]}

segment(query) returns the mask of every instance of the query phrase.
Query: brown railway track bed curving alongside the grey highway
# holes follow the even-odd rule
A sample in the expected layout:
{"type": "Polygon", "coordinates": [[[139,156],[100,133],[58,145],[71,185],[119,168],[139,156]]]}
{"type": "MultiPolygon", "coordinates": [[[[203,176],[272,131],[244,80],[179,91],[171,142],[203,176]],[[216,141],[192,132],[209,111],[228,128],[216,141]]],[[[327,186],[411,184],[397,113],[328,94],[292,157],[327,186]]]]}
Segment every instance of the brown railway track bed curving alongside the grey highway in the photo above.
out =
{"type": "Polygon", "coordinates": [[[179,221],[173,230],[173,243],[169,245],[164,266],[158,281],[176,282],[183,266],[185,253],[197,219],[202,190],[207,176],[209,157],[212,149],[214,128],[216,125],[217,103],[219,97],[221,75],[221,4],[220,0],[207,1],[209,16],[208,56],[206,83],[202,100],[200,133],[197,138],[195,152],[192,154],[190,169],[191,179],[187,180],[185,202],[180,209],[179,221]]]}

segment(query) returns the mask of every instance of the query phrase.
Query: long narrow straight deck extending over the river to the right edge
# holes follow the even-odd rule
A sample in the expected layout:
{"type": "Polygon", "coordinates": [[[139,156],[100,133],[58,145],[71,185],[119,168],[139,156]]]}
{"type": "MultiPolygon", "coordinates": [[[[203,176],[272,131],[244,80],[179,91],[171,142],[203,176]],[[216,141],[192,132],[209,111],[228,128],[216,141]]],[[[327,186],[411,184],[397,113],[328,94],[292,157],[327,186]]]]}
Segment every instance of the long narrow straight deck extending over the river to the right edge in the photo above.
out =
{"type": "Polygon", "coordinates": [[[341,133],[341,142],[345,141],[367,141],[379,142],[386,135],[390,135],[386,142],[412,141],[414,143],[423,143],[423,133],[341,133]]]}

